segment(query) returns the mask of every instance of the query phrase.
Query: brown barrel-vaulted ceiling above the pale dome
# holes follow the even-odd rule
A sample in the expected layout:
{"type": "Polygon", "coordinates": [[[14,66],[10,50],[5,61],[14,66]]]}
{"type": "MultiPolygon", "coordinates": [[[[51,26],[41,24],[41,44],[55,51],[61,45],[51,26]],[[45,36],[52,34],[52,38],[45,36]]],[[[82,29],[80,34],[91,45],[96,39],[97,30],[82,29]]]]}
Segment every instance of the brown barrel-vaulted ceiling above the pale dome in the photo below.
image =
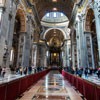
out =
{"type": "Polygon", "coordinates": [[[31,4],[36,6],[39,18],[41,19],[46,13],[58,11],[63,12],[68,19],[76,0],[29,0],[31,4]]]}

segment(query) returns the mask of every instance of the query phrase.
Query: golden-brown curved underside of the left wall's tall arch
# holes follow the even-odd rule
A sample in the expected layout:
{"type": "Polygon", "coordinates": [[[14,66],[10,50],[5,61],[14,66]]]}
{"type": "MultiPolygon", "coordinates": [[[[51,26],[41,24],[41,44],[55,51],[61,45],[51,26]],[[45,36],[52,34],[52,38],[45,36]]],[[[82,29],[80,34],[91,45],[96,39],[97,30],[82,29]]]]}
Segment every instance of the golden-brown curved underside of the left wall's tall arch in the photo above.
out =
{"type": "Polygon", "coordinates": [[[20,32],[26,32],[26,16],[22,8],[17,9],[16,17],[20,20],[20,32]]]}

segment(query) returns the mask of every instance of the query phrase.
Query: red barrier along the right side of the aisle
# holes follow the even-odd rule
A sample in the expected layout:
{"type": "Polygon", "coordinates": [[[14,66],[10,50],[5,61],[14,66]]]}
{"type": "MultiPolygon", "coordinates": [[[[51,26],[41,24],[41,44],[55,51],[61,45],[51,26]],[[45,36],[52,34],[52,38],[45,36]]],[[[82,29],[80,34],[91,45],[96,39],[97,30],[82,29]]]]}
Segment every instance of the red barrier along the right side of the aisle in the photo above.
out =
{"type": "Polygon", "coordinates": [[[75,86],[87,100],[100,100],[100,86],[65,71],[62,71],[62,75],[75,86]]]}

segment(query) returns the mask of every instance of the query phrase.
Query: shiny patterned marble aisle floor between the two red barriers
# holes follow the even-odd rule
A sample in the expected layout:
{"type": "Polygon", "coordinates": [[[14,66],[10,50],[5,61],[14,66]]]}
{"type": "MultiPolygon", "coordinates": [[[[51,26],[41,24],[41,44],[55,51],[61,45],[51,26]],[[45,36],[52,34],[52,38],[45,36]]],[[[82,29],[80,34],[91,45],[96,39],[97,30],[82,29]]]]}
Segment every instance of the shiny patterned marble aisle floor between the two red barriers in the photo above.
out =
{"type": "Polygon", "coordinates": [[[51,71],[16,100],[82,100],[58,71],[51,71]]]}

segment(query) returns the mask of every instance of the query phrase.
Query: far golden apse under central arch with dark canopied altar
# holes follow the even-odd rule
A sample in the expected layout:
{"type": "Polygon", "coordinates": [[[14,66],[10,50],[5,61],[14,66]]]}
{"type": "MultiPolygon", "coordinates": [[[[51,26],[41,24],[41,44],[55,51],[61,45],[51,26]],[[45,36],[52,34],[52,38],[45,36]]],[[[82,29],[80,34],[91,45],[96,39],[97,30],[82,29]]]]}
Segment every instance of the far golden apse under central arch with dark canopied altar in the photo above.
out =
{"type": "Polygon", "coordinates": [[[59,29],[51,29],[44,34],[44,39],[49,51],[49,65],[62,66],[62,46],[64,43],[64,34],[59,29]]]}

